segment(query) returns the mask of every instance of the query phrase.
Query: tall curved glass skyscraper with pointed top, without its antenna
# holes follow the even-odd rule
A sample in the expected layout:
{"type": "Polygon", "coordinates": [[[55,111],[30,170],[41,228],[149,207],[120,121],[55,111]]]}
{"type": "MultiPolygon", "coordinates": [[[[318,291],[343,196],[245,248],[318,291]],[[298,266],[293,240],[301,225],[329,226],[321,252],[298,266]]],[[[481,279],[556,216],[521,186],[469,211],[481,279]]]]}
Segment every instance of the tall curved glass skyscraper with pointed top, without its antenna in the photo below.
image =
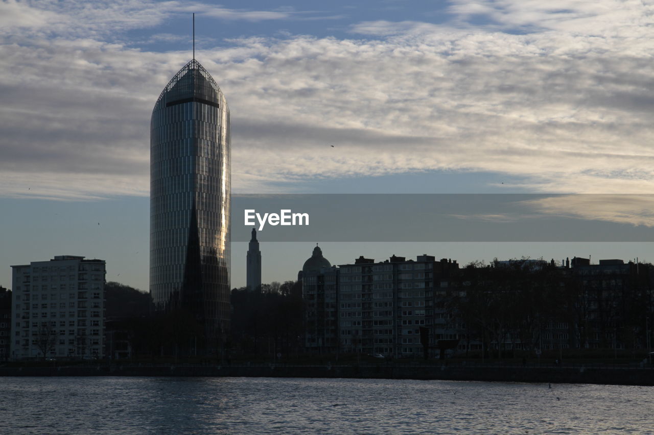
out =
{"type": "Polygon", "coordinates": [[[150,122],[150,294],[187,310],[207,339],[229,326],[230,110],[196,59],[166,85],[150,122]]]}

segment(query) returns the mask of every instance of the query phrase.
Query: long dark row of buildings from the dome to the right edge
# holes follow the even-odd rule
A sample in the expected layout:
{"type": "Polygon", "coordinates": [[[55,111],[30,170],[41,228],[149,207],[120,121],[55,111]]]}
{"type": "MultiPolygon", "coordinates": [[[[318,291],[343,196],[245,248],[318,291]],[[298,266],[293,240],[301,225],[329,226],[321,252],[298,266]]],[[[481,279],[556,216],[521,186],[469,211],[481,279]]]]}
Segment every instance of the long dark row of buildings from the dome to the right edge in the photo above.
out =
{"type": "MultiPolygon", "coordinates": [[[[393,255],[300,272],[309,351],[561,357],[565,349],[651,351],[654,267],[574,257],[470,264],[393,255]],[[513,352],[518,353],[513,353],[513,352]]],[[[649,357],[647,357],[649,358],[649,357]]]]}

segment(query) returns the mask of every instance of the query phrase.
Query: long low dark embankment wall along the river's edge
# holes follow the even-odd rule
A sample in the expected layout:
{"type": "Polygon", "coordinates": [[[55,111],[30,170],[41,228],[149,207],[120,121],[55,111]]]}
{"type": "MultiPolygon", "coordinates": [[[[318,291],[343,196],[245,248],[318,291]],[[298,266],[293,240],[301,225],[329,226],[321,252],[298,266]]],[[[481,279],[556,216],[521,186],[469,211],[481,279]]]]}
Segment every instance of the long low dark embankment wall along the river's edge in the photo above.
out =
{"type": "Polygon", "coordinates": [[[479,365],[128,365],[0,367],[0,376],[230,376],[270,378],[441,379],[654,385],[654,369],[479,365]]]}

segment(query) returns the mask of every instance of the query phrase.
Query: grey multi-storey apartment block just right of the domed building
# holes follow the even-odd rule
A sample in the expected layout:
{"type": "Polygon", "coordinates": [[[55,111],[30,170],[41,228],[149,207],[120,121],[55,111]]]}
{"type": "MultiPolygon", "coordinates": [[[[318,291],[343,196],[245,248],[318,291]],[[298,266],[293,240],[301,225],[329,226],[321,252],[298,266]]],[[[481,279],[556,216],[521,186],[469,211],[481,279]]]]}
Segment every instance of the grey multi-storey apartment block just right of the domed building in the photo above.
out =
{"type": "Polygon", "coordinates": [[[359,257],[339,266],[338,319],[341,351],[384,356],[422,355],[421,328],[430,348],[456,338],[443,322],[441,291],[458,274],[456,261],[392,255],[383,262],[359,257]]]}

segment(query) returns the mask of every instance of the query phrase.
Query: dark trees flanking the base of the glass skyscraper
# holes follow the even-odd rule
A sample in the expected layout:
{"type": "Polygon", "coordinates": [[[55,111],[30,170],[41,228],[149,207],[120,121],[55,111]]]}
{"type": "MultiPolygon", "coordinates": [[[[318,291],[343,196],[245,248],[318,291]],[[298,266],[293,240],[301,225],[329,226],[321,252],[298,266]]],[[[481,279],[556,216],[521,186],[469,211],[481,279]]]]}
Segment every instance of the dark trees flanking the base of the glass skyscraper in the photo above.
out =
{"type": "Polygon", "coordinates": [[[107,335],[112,334],[114,343],[128,343],[133,355],[177,359],[207,356],[206,349],[213,349],[217,359],[226,361],[234,354],[286,358],[301,350],[300,282],[271,282],[254,291],[233,289],[230,330],[216,331],[215,342],[209,342],[203,324],[188,310],[154,310],[149,293],[107,282],[105,297],[107,335]]]}

